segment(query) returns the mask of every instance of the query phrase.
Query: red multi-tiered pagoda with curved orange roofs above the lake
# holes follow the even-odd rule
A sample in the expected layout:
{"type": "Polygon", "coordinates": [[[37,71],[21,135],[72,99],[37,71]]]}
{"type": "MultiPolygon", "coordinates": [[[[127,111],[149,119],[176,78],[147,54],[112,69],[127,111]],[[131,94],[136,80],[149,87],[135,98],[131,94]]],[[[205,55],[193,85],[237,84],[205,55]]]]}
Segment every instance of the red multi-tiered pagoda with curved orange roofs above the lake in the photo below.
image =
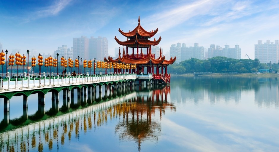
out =
{"type": "MultiPolygon", "coordinates": [[[[160,50],[160,57],[155,59],[155,55],[151,53],[151,46],[158,45],[161,41],[161,36],[156,41],[150,41],[149,39],[154,36],[158,32],[158,28],[155,31],[145,31],[142,26],[140,25],[140,19],[138,20],[138,26],[127,33],[123,32],[119,28],[119,32],[127,38],[126,41],[119,41],[116,36],[115,40],[118,44],[126,46],[126,54],[125,49],[123,47],[123,54],[121,57],[120,49],[119,49],[119,56],[117,59],[113,60],[112,57],[108,57],[108,62],[112,63],[122,63],[122,64],[136,64],[137,68],[133,69],[132,72],[137,74],[141,72],[145,73],[153,73],[153,79],[160,80],[164,83],[170,83],[170,74],[167,74],[167,66],[175,62],[176,57],[170,60],[165,60],[165,56],[162,57],[162,52],[160,50]],[[132,54],[128,54],[128,48],[132,48],[132,54]],[[135,53],[136,48],[136,53],[135,53]],[[141,48],[139,53],[139,48],[141,48]],[[142,52],[142,48],[146,48],[146,54],[142,52]],[[147,71],[144,71],[146,67],[147,71]],[[154,67],[156,68],[156,74],[154,73],[154,67]],[[159,72],[161,68],[161,73],[159,72]],[[165,72],[164,72],[165,70],[165,72]]],[[[116,71],[115,72],[119,72],[116,71]]]]}

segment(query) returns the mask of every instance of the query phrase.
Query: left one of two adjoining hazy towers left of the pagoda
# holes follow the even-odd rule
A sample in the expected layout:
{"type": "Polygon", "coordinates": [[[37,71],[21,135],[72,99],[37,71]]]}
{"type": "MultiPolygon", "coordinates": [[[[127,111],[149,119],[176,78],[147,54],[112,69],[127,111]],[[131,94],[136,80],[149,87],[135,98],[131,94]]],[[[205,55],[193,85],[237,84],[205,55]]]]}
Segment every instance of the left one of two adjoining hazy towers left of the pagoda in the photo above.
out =
{"type": "MultiPolygon", "coordinates": [[[[88,47],[89,47],[89,39],[86,36],[81,36],[80,38],[73,39],[73,58],[80,58],[86,59],[89,55],[88,47]]],[[[91,53],[92,54],[92,53],[91,53]]],[[[59,55],[60,57],[60,55],[59,55]]],[[[88,58],[87,58],[88,60],[88,58]]]]}

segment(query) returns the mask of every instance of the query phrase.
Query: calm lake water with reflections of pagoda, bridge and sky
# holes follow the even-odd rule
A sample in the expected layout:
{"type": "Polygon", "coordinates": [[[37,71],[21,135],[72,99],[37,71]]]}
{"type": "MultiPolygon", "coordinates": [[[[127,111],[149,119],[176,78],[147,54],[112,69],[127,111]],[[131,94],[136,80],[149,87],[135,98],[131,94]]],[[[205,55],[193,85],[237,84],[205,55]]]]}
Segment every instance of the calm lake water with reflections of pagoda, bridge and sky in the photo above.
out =
{"type": "MultiPolygon", "coordinates": [[[[105,101],[87,96],[81,105],[76,96],[63,105],[60,93],[59,112],[48,93],[43,116],[31,95],[27,120],[16,96],[10,124],[1,126],[0,152],[279,151],[278,92],[277,78],[172,76],[169,86],[102,92],[105,101]]],[[[1,99],[0,120],[3,107],[1,99]]]]}

